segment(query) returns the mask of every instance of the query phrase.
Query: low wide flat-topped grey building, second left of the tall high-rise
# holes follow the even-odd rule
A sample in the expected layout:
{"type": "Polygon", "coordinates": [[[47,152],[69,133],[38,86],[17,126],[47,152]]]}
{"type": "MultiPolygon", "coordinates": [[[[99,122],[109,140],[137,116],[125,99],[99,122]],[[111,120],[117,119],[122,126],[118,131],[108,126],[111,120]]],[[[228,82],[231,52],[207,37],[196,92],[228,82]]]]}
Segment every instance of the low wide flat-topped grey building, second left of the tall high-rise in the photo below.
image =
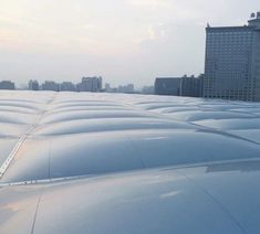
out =
{"type": "Polygon", "coordinates": [[[157,77],[155,79],[155,94],[179,96],[180,79],[180,77],[157,77]]]}

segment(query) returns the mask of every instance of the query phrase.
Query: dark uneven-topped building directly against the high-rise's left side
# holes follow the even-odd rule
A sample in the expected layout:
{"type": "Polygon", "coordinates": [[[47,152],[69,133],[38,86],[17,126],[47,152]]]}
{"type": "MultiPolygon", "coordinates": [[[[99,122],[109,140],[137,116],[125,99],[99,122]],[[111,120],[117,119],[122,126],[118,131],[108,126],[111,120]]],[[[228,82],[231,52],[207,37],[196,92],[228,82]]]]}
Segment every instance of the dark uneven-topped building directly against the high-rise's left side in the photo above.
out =
{"type": "Polygon", "coordinates": [[[180,79],[180,96],[202,97],[204,75],[198,77],[185,75],[180,79]]]}

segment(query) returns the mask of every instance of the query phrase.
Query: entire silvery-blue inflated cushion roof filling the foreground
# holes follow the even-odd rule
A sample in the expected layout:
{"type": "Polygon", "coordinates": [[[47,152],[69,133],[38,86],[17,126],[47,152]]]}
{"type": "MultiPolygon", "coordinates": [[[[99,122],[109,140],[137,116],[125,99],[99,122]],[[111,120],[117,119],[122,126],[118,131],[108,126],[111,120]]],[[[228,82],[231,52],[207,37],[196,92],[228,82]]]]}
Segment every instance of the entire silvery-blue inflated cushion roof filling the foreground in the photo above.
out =
{"type": "Polygon", "coordinates": [[[0,92],[0,233],[260,232],[257,103],[0,92]]]}

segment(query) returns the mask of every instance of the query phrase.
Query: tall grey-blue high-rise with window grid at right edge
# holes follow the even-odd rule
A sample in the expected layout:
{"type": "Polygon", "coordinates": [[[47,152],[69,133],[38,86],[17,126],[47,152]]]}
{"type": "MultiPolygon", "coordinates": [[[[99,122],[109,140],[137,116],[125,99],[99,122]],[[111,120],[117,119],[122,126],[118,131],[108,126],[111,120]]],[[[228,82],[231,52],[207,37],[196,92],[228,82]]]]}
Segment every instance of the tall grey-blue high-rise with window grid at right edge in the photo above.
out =
{"type": "Polygon", "coordinates": [[[206,28],[204,97],[260,100],[260,12],[243,26],[206,28]]]}

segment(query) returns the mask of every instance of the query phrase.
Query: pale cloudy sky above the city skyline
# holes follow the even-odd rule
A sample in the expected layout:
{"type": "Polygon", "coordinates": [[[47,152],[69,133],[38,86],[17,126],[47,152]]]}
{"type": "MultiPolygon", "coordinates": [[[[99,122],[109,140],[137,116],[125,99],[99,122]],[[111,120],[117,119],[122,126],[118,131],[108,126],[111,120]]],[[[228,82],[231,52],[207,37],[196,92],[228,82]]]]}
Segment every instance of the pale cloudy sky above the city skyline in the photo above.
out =
{"type": "Polygon", "coordinates": [[[259,0],[0,0],[0,79],[153,85],[204,72],[205,26],[243,25],[259,0]]]}

